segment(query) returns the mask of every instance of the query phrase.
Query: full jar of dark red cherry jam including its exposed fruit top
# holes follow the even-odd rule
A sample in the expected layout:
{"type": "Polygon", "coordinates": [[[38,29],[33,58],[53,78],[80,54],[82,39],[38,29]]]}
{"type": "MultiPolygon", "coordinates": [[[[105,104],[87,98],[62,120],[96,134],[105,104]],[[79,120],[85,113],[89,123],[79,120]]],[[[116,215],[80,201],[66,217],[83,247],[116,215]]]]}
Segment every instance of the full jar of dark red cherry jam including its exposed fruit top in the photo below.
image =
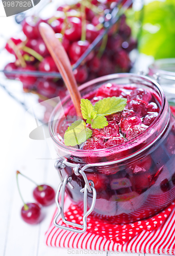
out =
{"type": "MultiPolygon", "coordinates": [[[[114,74],[80,87],[82,98],[94,105],[107,97],[126,99],[122,111],[106,115],[108,124],[93,129],[88,140],[76,146],[64,144],[64,133],[76,116],[70,96],[59,103],[50,119],[50,134],[59,158],[86,164],[84,173],[97,192],[93,218],[129,223],[157,214],[175,199],[175,120],[159,84],[135,74],[114,74]]],[[[73,168],[67,194],[83,211],[84,179],[73,168]]],[[[88,192],[88,207],[92,193],[88,192]]]]}

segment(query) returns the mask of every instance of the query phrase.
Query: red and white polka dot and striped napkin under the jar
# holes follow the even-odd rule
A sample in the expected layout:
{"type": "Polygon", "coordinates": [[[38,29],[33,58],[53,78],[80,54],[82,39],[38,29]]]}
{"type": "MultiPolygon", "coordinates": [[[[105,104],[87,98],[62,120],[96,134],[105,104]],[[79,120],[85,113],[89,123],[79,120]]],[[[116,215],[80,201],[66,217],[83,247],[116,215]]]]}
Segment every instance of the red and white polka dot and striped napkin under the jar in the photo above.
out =
{"type": "MultiPolygon", "coordinates": [[[[53,247],[91,250],[117,250],[142,253],[175,254],[174,202],[166,209],[146,220],[131,224],[107,224],[88,217],[88,228],[83,234],[56,228],[53,219],[46,232],[46,244],[53,247]]],[[[82,224],[82,213],[70,199],[65,199],[65,218],[82,224]]],[[[63,224],[61,218],[58,219],[63,224]]],[[[65,225],[65,224],[63,224],[65,225]]]]}

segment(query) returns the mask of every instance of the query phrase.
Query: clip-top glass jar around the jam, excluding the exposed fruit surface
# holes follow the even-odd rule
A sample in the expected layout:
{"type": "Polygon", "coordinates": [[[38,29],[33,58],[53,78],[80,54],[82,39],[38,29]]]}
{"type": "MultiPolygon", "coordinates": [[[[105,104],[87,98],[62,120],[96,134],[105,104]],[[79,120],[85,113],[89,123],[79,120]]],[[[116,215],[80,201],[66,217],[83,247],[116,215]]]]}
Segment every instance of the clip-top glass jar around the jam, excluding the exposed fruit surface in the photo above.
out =
{"type": "MultiPolygon", "coordinates": [[[[61,142],[64,124],[75,118],[69,95],[52,112],[49,130],[59,158],[69,165],[60,172],[62,178],[71,176],[74,188],[69,184],[65,191],[73,204],[83,211],[81,189],[85,182],[77,174],[79,169],[96,189],[91,216],[114,224],[129,223],[157,214],[175,199],[175,120],[162,88],[146,76],[121,73],[100,77],[83,84],[81,96],[93,98],[97,88],[106,82],[147,88],[158,99],[159,115],[145,132],[122,145],[101,150],[65,146],[61,142]]],[[[88,191],[88,208],[92,200],[88,191]]]]}

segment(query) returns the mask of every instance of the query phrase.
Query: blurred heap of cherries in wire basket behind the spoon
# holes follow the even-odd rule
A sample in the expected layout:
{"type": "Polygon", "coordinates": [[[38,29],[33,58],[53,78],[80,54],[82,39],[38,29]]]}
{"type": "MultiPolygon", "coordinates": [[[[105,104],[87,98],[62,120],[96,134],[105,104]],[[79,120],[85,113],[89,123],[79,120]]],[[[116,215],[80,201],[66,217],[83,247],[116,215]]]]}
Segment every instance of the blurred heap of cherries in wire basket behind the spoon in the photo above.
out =
{"type": "MultiPolygon", "coordinates": [[[[124,2],[122,1],[122,4],[124,2]]],[[[87,1],[82,1],[73,6],[59,7],[55,15],[46,20],[36,16],[27,17],[21,23],[26,40],[21,41],[12,37],[5,47],[16,58],[14,63],[6,65],[5,70],[25,71],[26,74],[6,74],[6,76],[10,79],[18,78],[23,82],[24,91],[42,95],[40,99],[64,97],[65,87],[61,79],[53,79],[49,76],[37,78],[27,74],[27,71],[58,72],[39,33],[39,24],[48,23],[53,28],[55,36],[62,42],[71,64],[74,65],[103,30],[101,18],[113,4],[112,1],[100,3],[92,0],[89,4],[87,1]]],[[[126,17],[122,15],[96,49],[74,70],[78,84],[99,76],[129,71],[131,63],[128,53],[136,47],[137,41],[131,36],[126,17]]]]}

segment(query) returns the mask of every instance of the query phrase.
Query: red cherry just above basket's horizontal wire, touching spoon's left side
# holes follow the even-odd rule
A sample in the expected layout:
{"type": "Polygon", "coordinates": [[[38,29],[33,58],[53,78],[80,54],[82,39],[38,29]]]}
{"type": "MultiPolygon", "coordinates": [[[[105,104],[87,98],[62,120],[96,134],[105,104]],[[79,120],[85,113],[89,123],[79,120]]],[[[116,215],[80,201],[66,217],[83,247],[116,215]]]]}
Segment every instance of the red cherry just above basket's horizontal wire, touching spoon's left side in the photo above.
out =
{"type": "Polygon", "coordinates": [[[45,57],[39,63],[39,70],[43,72],[58,72],[55,62],[51,56],[45,57]]]}

